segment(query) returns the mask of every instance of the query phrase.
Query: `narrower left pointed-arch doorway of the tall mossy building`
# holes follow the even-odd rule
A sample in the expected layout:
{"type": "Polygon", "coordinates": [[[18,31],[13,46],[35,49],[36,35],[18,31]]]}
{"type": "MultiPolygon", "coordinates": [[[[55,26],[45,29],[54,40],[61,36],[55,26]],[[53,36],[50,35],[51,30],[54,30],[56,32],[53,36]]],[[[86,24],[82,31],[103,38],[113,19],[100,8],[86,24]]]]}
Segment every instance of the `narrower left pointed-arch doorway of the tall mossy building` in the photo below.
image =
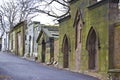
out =
{"type": "Polygon", "coordinates": [[[64,36],[63,39],[63,67],[64,68],[69,67],[69,44],[66,35],[64,36]]]}

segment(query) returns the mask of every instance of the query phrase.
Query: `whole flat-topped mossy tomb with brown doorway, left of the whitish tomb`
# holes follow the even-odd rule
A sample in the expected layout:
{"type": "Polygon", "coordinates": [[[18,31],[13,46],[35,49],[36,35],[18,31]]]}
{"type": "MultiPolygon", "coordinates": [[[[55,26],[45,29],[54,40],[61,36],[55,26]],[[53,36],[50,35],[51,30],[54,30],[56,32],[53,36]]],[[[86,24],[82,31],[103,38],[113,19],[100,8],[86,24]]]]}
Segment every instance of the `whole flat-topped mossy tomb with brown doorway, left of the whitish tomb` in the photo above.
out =
{"type": "Polygon", "coordinates": [[[9,50],[19,56],[23,56],[25,51],[25,28],[26,22],[21,22],[10,31],[9,50]]]}

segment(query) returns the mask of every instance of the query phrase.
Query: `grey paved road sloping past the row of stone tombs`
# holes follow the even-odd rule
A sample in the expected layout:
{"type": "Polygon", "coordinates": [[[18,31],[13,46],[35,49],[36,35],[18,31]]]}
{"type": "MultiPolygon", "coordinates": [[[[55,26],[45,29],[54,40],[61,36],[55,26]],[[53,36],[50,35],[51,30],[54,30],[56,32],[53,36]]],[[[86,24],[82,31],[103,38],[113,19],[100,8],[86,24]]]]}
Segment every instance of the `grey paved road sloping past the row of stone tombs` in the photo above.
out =
{"type": "Polygon", "coordinates": [[[98,80],[0,52],[0,80],[98,80]]]}

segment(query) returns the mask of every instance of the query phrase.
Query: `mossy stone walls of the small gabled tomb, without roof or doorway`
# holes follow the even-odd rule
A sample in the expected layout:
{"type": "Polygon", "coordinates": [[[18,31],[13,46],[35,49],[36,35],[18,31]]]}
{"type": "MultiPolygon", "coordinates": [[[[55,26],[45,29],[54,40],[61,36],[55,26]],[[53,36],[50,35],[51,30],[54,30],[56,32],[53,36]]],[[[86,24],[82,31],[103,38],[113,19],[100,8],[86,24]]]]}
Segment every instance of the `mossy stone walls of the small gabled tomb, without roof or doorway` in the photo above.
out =
{"type": "MultiPolygon", "coordinates": [[[[50,26],[48,28],[54,28],[54,26],[50,26]]],[[[48,39],[50,39],[50,37],[48,37],[46,35],[46,33],[41,32],[41,37],[38,38],[38,61],[42,61],[42,40],[45,40],[45,63],[49,64],[50,63],[50,42],[48,42],[48,39]]],[[[57,38],[54,38],[54,61],[58,61],[58,54],[59,54],[59,40],[57,38]]]]}

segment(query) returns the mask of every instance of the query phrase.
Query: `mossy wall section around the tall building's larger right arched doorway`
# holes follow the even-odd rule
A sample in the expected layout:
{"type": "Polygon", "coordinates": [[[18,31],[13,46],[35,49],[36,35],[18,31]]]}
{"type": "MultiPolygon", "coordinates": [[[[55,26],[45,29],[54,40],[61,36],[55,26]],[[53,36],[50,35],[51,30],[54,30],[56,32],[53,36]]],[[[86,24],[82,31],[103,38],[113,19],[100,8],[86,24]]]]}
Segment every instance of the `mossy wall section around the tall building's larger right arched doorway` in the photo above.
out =
{"type": "Polygon", "coordinates": [[[108,3],[92,6],[88,8],[88,20],[82,31],[82,66],[81,69],[88,69],[88,51],[86,50],[86,42],[91,27],[96,31],[99,39],[98,49],[98,71],[106,71],[108,69],[108,3]],[[86,66],[86,67],[85,67],[86,66]]]}

